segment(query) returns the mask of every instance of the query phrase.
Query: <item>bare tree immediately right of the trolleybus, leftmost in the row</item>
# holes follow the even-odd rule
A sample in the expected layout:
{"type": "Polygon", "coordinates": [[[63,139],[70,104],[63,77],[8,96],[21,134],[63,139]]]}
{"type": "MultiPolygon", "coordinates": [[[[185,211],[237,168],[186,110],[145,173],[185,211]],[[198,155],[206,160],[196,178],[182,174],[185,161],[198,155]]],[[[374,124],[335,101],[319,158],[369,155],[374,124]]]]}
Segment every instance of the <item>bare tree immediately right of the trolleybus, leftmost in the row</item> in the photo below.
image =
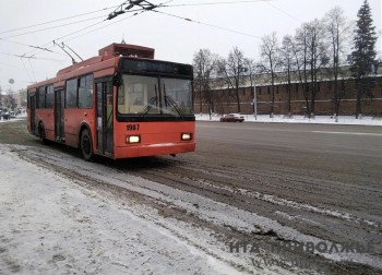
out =
{"type": "Polygon", "coordinates": [[[194,67],[194,88],[199,92],[200,111],[203,110],[203,98],[207,101],[208,113],[214,109],[213,96],[211,91],[212,76],[216,68],[217,56],[212,53],[208,49],[200,49],[193,56],[194,67]],[[203,96],[204,94],[204,96],[203,96]]]}

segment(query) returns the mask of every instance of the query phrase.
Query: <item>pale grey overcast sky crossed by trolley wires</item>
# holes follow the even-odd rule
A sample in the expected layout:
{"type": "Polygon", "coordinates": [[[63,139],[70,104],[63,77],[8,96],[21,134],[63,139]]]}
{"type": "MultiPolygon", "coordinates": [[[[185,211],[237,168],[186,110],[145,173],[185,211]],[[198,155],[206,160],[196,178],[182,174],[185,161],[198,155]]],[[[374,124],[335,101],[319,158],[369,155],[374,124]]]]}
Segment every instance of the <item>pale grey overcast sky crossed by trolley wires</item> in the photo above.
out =
{"type": "MultiPolygon", "coordinates": [[[[151,2],[159,4],[167,1],[151,2]]],[[[131,14],[122,14],[104,22],[114,10],[106,8],[117,7],[123,0],[7,2],[0,9],[0,86],[4,91],[25,88],[28,83],[52,77],[59,69],[71,64],[71,59],[58,46],[55,47],[52,40],[65,43],[83,59],[96,56],[99,48],[120,43],[122,38],[128,44],[153,47],[157,59],[169,61],[191,63],[193,53],[200,48],[208,48],[226,57],[234,46],[243,50],[246,57],[258,59],[260,37],[276,32],[280,40],[286,34],[294,35],[302,23],[322,19],[336,5],[344,10],[347,19],[355,21],[363,0],[238,0],[236,3],[222,3],[235,2],[232,0],[172,0],[167,4],[177,7],[158,9],[203,24],[154,12],[132,17],[131,14]],[[84,13],[89,14],[24,28],[84,13]],[[13,32],[17,28],[22,29],[13,32]],[[16,57],[33,53],[36,59],[16,57]],[[10,79],[14,80],[14,84],[9,83],[10,79]]],[[[381,32],[381,0],[369,0],[369,3],[374,25],[381,32]]],[[[382,51],[381,41],[378,50],[382,51]]]]}

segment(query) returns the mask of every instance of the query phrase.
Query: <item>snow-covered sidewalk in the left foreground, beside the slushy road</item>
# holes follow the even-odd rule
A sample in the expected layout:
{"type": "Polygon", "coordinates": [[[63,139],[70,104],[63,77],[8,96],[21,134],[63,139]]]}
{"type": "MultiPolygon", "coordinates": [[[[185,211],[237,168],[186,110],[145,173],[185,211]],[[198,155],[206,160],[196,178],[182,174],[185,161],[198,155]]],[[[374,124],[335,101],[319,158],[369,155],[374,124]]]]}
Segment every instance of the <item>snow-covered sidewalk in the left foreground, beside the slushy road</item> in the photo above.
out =
{"type": "Polygon", "coordinates": [[[0,170],[0,274],[237,273],[3,145],[0,170]]]}

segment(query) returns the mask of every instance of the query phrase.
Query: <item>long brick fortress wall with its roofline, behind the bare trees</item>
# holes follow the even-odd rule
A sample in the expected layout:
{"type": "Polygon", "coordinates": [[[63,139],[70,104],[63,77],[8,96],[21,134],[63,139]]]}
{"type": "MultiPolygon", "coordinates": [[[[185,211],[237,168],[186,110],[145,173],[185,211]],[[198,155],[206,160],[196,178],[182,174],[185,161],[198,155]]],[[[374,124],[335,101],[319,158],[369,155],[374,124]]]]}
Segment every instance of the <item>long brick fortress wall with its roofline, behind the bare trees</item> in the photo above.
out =
{"type": "MultiPolygon", "coordinates": [[[[382,116],[382,74],[375,74],[369,77],[374,86],[371,89],[372,98],[362,98],[363,116],[382,116]]],[[[208,113],[229,113],[238,112],[238,103],[234,96],[234,89],[218,80],[214,80],[213,88],[208,92],[194,93],[194,111],[208,113]],[[211,104],[208,104],[211,103],[211,104]]],[[[356,112],[356,84],[357,80],[345,75],[339,79],[339,91],[342,99],[339,104],[339,115],[355,115],[356,112]]],[[[308,83],[309,85],[309,83],[308,83]]],[[[331,80],[318,81],[318,93],[314,100],[314,115],[334,115],[334,82],[331,80]]],[[[294,81],[288,84],[285,81],[278,81],[274,85],[274,115],[307,115],[307,99],[305,97],[306,86],[303,83],[294,81]],[[289,100],[290,98],[290,100],[289,100]],[[290,104],[289,104],[290,101],[290,104]],[[290,107],[289,107],[290,105],[290,107]]],[[[272,106],[272,86],[266,83],[264,75],[252,76],[252,84],[249,76],[244,77],[243,84],[239,88],[239,101],[241,113],[270,115],[272,106]],[[255,100],[254,100],[255,95],[255,100]],[[254,104],[255,103],[255,104],[254,104]]],[[[310,101],[310,100],[309,100],[310,101]]]]}

